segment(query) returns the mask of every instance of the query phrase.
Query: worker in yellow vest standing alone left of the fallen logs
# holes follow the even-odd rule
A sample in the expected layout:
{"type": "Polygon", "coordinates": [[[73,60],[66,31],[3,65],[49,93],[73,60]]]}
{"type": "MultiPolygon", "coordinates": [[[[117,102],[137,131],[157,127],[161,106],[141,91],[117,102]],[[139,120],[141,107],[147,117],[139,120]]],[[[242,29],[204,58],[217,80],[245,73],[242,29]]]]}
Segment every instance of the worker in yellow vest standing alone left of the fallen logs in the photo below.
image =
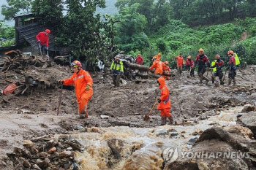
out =
{"type": "Polygon", "coordinates": [[[119,87],[121,74],[124,74],[123,62],[120,61],[118,56],[112,61],[110,66],[110,72],[112,72],[113,84],[115,87],[119,87]]]}

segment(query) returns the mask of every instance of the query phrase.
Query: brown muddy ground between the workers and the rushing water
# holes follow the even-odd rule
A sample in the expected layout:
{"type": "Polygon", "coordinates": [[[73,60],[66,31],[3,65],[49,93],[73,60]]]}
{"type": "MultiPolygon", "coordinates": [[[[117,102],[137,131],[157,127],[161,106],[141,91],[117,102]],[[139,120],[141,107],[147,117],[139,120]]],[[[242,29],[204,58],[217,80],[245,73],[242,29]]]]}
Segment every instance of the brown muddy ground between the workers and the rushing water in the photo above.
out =
{"type": "MultiPolygon", "coordinates": [[[[151,78],[138,80],[122,79],[121,87],[112,85],[108,73],[91,72],[94,79],[94,94],[89,101],[89,119],[78,118],[78,106],[75,92],[72,87],[64,87],[59,115],[57,115],[61,85],[58,80],[66,79],[72,72],[68,66],[59,66],[55,63],[45,69],[36,66],[27,66],[1,74],[0,77],[14,82],[24,82],[25,76],[38,78],[45,82],[38,87],[30,87],[23,95],[15,96],[14,93],[0,95],[0,169],[12,169],[7,152],[12,152],[14,147],[23,143],[24,139],[31,139],[45,134],[69,134],[70,131],[83,127],[154,127],[159,125],[159,111],[154,109],[151,121],[143,121],[154,104],[160,91],[157,80],[151,78]],[[20,109],[29,110],[29,113],[18,114],[20,109]],[[109,116],[101,119],[100,115],[109,116]]],[[[214,115],[216,112],[229,107],[255,104],[256,82],[255,66],[237,72],[237,84],[214,87],[198,84],[195,78],[187,78],[187,72],[181,76],[176,74],[167,81],[170,88],[171,112],[178,124],[193,122],[203,115],[214,115]]],[[[210,79],[210,73],[208,78],[210,79]]],[[[227,75],[226,75],[227,77],[227,75]]],[[[5,82],[0,80],[0,82],[5,82]]],[[[3,89],[7,84],[0,84],[3,89]]],[[[20,89],[23,90],[23,89],[20,89]]]]}

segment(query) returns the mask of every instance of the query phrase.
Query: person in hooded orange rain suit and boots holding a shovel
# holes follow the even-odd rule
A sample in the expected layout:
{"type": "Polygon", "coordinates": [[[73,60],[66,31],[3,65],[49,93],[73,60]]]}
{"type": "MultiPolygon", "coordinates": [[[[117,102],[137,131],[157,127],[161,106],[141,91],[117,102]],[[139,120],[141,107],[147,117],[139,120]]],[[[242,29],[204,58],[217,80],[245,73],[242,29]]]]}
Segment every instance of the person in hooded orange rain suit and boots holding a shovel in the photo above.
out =
{"type": "Polygon", "coordinates": [[[158,98],[157,109],[160,110],[162,123],[161,125],[166,124],[166,118],[170,120],[170,124],[173,124],[173,117],[170,114],[170,93],[167,85],[165,85],[165,79],[160,77],[157,79],[159,89],[161,90],[161,97],[158,98]]]}

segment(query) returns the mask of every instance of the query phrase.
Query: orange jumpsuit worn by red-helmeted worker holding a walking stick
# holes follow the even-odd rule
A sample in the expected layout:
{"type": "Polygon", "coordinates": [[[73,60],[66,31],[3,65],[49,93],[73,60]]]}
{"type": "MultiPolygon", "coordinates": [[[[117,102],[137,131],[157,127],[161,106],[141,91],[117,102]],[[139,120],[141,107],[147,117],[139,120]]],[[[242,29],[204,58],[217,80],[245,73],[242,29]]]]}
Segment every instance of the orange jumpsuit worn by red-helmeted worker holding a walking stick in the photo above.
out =
{"type": "Polygon", "coordinates": [[[64,80],[63,84],[75,85],[75,96],[77,97],[78,101],[79,115],[81,114],[81,112],[86,112],[87,117],[87,103],[91,99],[93,93],[93,80],[91,79],[89,72],[80,69],[78,73],[73,73],[72,77],[64,80]],[[91,88],[89,90],[86,90],[86,85],[90,85],[91,88]]]}

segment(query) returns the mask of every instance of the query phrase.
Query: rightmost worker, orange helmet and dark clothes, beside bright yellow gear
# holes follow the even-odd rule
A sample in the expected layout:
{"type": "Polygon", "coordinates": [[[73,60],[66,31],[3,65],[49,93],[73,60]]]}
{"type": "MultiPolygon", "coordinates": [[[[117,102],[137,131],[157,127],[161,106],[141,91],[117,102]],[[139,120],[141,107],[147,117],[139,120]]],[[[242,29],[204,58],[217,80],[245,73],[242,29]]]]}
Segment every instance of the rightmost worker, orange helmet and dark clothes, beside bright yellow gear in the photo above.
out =
{"type": "Polygon", "coordinates": [[[227,52],[227,55],[229,56],[229,66],[227,67],[228,69],[228,85],[231,85],[231,82],[233,80],[233,84],[236,85],[236,60],[234,57],[234,52],[233,50],[229,50],[227,52]]]}

